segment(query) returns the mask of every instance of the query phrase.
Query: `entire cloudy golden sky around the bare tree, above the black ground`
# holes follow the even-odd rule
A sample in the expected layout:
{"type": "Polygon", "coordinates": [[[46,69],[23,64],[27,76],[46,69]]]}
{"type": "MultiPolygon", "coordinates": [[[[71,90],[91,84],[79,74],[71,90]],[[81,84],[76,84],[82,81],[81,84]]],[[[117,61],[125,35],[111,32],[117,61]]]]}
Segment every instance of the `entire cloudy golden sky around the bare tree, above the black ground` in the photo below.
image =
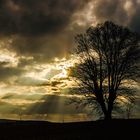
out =
{"type": "Polygon", "coordinates": [[[74,36],[106,20],[140,33],[140,0],[0,0],[0,118],[95,119],[66,105],[67,70],[74,36]]]}

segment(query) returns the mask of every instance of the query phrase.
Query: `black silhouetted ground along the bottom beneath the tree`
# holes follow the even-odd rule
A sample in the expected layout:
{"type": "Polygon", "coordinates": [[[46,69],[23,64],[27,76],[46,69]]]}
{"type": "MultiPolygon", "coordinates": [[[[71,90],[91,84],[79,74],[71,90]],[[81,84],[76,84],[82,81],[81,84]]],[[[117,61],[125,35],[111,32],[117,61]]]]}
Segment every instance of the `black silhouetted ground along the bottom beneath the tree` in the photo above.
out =
{"type": "Polygon", "coordinates": [[[120,140],[140,139],[140,120],[79,123],[0,121],[0,140],[120,140]]]}

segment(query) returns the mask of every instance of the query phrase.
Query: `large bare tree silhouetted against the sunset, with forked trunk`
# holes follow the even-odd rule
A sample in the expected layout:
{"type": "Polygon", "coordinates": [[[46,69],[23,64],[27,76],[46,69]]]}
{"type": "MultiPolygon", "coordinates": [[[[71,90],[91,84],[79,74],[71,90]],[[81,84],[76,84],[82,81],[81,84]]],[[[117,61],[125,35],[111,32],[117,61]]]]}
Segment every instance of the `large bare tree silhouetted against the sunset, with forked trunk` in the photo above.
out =
{"type": "Polygon", "coordinates": [[[97,101],[105,119],[111,119],[116,99],[127,94],[124,91],[121,94],[120,89],[124,85],[129,87],[130,80],[136,81],[139,76],[139,36],[126,27],[106,21],[90,27],[75,39],[79,61],[71,68],[70,75],[91,101],[97,101]]]}

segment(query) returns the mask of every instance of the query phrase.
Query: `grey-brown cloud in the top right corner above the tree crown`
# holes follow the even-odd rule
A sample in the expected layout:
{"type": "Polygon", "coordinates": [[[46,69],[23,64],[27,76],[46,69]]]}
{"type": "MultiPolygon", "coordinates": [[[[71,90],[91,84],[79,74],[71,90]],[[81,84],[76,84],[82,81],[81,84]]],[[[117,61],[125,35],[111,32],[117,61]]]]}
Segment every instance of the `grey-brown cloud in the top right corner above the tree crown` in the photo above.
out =
{"type": "Polygon", "coordinates": [[[140,1],[139,0],[92,0],[94,2],[93,15],[98,22],[105,20],[129,26],[139,30],[140,1]]]}

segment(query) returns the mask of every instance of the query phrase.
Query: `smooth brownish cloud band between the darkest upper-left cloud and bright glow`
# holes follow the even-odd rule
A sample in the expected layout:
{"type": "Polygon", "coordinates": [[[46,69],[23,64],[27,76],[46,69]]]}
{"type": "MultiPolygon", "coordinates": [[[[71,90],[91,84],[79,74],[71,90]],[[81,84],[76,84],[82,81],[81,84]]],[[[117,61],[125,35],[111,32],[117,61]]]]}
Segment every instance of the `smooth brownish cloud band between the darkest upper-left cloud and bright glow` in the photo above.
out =
{"type": "MultiPolygon", "coordinates": [[[[12,43],[7,46],[7,48],[16,52],[17,56],[33,57],[32,60],[29,60],[33,63],[48,62],[54,57],[66,57],[73,43],[70,43],[69,40],[74,41],[73,37],[72,39],[69,38],[68,33],[64,32],[60,32],[57,35],[39,37],[13,36],[11,39],[12,43]]],[[[23,60],[20,60],[23,64],[23,60]]],[[[24,62],[25,61],[24,59],[24,62]]],[[[27,63],[29,63],[29,61],[27,63]]]]}

